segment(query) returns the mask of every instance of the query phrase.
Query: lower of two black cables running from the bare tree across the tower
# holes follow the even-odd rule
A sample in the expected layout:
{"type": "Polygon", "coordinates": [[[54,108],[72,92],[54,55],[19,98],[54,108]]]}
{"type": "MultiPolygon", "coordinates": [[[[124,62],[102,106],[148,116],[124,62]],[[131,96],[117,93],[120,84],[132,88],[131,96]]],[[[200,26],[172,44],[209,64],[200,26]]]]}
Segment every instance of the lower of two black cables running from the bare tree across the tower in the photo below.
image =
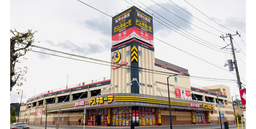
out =
{"type": "MultiPolygon", "coordinates": [[[[17,47],[15,47],[15,48],[17,48],[17,47]]],[[[63,56],[59,56],[59,55],[54,55],[54,54],[49,54],[49,53],[44,53],[44,52],[38,52],[38,51],[34,51],[34,50],[30,50],[30,51],[37,52],[37,53],[43,53],[43,54],[47,54],[47,55],[53,55],[53,56],[57,56],[57,57],[63,57],[63,56]]],[[[63,58],[69,58],[69,57],[63,57],[63,58]]],[[[75,59],[75,58],[69,58],[69,59],[79,60],[79,59],[75,59]]],[[[84,62],[89,62],[89,63],[94,63],[94,64],[101,64],[101,63],[90,62],[90,61],[85,61],[85,60],[79,60],[79,61],[84,61],[84,62]]],[[[101,65],[107,65],[107,64],[101,64],[101,65]]],[[[112,66],[112,65],[107,65],[107,66],[112,66]]],[[[119,67],[119,68],[129,69],[129,68],[124,68],[124,67],[119,67]]],[[[139,71],[139,70],[136,70],[136,69],[131,69],[131,70],[139,71]]],[[[149,71],[142,71],[142,72],[149,72],[149,71]]],[[[156,72],[149,72],[149,73],[160,74],[160,73],[156,73],[156,72]]],[[[161,75],[169,76],[170,74],[161,74],[161,75]]],[[[182,76],[184,76],[184,75],[182,75],[182,76]]],[[[178,76],[178,77],[181,77],[181,76],[178,76]]],[[[184,78],[190,78],[190,77],[184,77],[184,78]]],[[[196,79],[196,78],[191,78],[191,79],[196,79]]],[[[199,80],[214,81],[214,80],[206,80],[206,79],[199,79],[199,80]]],[[[235,80],[229,80],[229,81],[235,81],[235,80]]],[[[227,82],[227,81],[219,81],[219,82],[227,82]]],[[[228,83],[233,83],[233,82],[228,82],[228,83]]]]}

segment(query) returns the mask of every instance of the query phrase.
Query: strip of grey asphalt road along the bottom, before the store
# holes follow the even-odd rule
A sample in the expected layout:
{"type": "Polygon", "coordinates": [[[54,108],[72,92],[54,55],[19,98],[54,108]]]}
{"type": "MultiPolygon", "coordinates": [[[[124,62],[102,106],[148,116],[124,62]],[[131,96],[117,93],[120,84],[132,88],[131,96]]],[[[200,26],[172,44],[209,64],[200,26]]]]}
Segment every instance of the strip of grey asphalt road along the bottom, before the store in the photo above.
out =
{"type": "MultiPolygon", "coordinates": [[[[45,125],[28,125],[30,129],[44,129],[45,125]]],[[[237,127],[233,127],[235,124],[229,124],[230,129],[237,129],[237,127]]],[[[241,125],[242,126],[242,125],[241,125]]],[[[239,129],[242,129],[242,127],[239,127],[239,129]]],[[[109,128],[109,129],[130,129],[130,127],[110,127],[110,126],[95,126],[95,127],[88,127],[85,126],[85,129],[103,129],[103,128],[109,128]]],[[[147,126],[147,127],[135,127],[140,129],[170,129],[169,126],[147,126]]],[[[220,129],[220,124],[203,124],[203,125],[187,125],[187,126],[172,126],[173,129],[220,129]]],[[[55,125],[47,125],[47,129],[55,129],[55,125]]],[[[59,129],[84,129],[84,126],[59,126],[59,129]]],[[[224,126],[223,126],[224,129],[224,126]]],[[[245,129],[245,126],[244,126],[245,129]]]]}

